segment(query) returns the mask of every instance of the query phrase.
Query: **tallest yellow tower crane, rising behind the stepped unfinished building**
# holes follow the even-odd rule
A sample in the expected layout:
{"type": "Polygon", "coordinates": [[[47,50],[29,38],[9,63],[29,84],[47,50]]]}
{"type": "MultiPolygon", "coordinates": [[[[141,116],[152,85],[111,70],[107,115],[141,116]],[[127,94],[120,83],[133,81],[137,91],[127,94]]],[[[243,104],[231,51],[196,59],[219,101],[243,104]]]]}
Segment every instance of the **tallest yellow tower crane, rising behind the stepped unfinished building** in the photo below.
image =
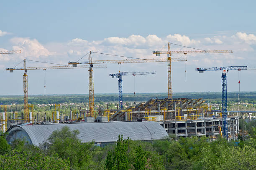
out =
{"type": "MultiPolygon", "coordinates": [[[[197,51],[171,51],[170,50],[170,42],[168,42],[168,50],[167,51],[153,51],[153,54],[156,56],[160,56],[160,54],[167,54],[167,65],[168,65],[168,99],[172,99],[172,54],[205,54],[205,53],[232,53],[232,50],[199,50],[197,51]]],[[[175,44],[177,45],[177,44],[175,44]]],[[[182,46],[182,45],[179,45],[182,46]]],[[[183,46],[184,47],[184,46],[183,46]]],[[[190,48],[190,47],[189,47],[190,48]]],[[[187,61],[187,57],[186,57],[187,61]]]]}

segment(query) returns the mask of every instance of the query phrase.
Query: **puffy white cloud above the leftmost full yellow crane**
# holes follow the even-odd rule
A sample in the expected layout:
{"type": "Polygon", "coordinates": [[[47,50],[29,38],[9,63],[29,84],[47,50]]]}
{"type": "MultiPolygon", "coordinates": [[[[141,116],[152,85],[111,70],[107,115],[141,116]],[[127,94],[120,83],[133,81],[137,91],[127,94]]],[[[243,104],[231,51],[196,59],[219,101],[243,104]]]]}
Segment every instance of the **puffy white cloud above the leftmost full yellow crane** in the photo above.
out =
{"type": "Polygon", "coordinates": [[[45,58],[51,55],[51,53],[36,39],[31,40],[28,37],[14,37],[10,42],[13,43],[13,50],[21,50],[21,54],[18,56],[22,59],[45,58]]]}

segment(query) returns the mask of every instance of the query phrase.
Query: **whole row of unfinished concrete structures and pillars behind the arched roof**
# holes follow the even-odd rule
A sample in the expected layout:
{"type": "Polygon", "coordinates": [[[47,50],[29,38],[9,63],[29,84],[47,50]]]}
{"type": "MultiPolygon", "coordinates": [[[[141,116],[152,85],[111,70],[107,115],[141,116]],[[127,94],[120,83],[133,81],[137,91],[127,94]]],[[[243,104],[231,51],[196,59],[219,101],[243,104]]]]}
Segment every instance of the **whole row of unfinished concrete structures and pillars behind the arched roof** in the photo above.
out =
{"type": "MultiPolygon", "coordinates": [[[[1,129],[9,129],[11,125],[20,125],[24,117],[13,115],[13,120],[6,117],[6,106],[1,107],[1,129]]],[[[100,109],[95,117],[89,114],[88,110],[81,107],[79,112],[70,111],[69,115],[63,115],[60,105],[55,105],[55,112],[52,117],[44,117],[44,121],[38,120],[38,116],[30,112],[30,118],[26,125],[34,124],[57,124],[57,123],[74,123],[74,122],[122,122],[125,125],[127,121],[148,121],[157,122],[166,131],[166,134],[179,137],[202,136],[205,135],[211,140],[218,138],[222,131],[222,114],[213,112],[210,103],[205,103],[202,98],[174,98],[174,99],[150,99],[147,102],[141,102],[135,107],[128,107],[125,110],[108,110],[100,109]],[[60,115],[59,115],[60,114],[60,115]]],[[[102,125],[102,124],[101,124],[102,125]]],[[[108,125],[104,124],[104,125],[108,125]]],[[[97,124],[95,125],[97,126],[97,124]]],[[[44,126],[40,126],[44,127],[44,126]]],[[[10,128],[11,129],[11,128],[10,128]]],[[[228,116],[228,138],[229,140],[237,139],[239,133],[239,116],[229,114],[228,116]]],[[[129,134],[127,134],[129,135],[129,134]]]]}

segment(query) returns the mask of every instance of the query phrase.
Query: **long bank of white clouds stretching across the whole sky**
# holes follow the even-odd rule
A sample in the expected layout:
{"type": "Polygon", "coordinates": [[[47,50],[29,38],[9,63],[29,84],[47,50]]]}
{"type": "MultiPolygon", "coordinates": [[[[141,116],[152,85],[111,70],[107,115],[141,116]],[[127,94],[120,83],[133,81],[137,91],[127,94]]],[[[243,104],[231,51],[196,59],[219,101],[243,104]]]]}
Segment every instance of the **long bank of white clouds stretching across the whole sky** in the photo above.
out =
{"type": "MultiPolygon", "coordinates": [[[[11,39],[13,43],[13,50],[22,50],[20,55],[0,56],[3,61],[13,59],[33,59],[42,58],[41,61],[45,61],[46,57],[51,55],[51,58],[47,60],[55,63],[66,64],[67,61],[74,61],[87,54],[88,51],[102,52],[114,55],[124,55],[128,57],[138,58],[156,58],[152,54],[153,50],[167,50],[167,42],[173,42],[185,46],[197,47],[204,50],[233,50],[233,54],[188,54],[188,65],[218,65],[228,63],[228,60],[234,60],[234,64],[239,64],[243,60],[253,60],[251,52],[255,50],[255,47],[248,43],[242,43],[254,41],[254,35],[247,35],[246,33],[238,32],[233,36],[212,36],[203,37],[201,39],[191,39],[186,35],[167,35],[166,37],[158,37],[157,35],[130,35],[128,37],[107,37],[102,40],[83,40],[82,38],[74,38],[69,42],[54,43],[50,42],[46,45],[42,45],[36,39],[15,37],[11,39]],[[51,52],[49,52],[51,51],[51,52]],[[15,56],[15,58],[13,57],[15,56]],[[227,61],[224,61],[227,60],[227,61]]],[[[171,50],[187,50],[185,47],[177,47],[171,50]]],[[[162,55],[161,57],[164,57],[162,55]]],[[[116,60],[123,59],[121,57],[115,57],[110,55],[100,55],[93,53],[93,60],[116,60]]],[[[180,54],[174,54],[173,57],[183,57],[180,54]]],[[[83,60],[88,60],[84,57],[83,60]]],[[[13,60],[17,62],[17,60],[13,60]]],[[[14,62],[14,63],[15,63],[14,62]]]]}

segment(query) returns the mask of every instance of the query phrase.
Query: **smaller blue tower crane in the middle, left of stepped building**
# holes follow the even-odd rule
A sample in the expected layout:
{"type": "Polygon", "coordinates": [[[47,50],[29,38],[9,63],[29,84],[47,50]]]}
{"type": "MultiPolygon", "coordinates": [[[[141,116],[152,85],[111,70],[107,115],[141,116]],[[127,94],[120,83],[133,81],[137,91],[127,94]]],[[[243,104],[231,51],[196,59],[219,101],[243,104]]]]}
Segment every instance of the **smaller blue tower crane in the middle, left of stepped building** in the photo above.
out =
{"type": "MultiPolygon", "coordinates": [[[[109,74],[112,78],[118,78],[118,108],[123,110],[123,75],[149,75],[155,74],[155,72],[117,72],[115,74],[109,74]]],[[[135,94],[135,92],[134,92],[135,94]]]]}

